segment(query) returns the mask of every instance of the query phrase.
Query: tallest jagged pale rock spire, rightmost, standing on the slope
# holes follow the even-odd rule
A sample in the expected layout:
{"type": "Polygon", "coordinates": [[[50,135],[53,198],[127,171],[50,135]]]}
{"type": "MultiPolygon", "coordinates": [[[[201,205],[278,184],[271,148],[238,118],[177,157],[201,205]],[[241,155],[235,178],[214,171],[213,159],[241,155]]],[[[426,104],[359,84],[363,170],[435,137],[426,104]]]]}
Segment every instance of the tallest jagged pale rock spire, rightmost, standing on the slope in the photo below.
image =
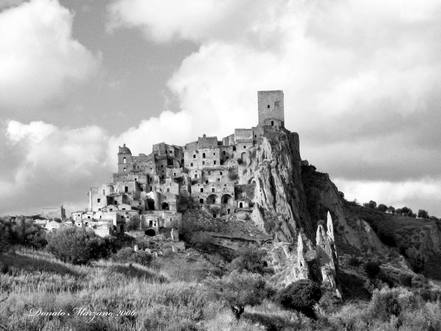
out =
{"type": "Polygon", "coordinates": [[[338,257],[334,243],[334,229],[331,215],[328,212],[328,231],[325,232],[323,225],[317,227],[316,237],[316,261],[321,271],[323,281],[328,281],[336,294],[341,298],[341,289],[338,282],[338,257]]]}

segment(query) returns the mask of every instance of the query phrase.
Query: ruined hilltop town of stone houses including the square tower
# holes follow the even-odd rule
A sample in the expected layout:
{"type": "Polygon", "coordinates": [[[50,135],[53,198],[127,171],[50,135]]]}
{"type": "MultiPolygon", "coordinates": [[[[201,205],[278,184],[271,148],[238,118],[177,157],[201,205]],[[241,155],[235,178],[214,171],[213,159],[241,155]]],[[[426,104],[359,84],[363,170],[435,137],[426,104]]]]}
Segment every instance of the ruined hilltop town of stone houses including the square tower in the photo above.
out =
{"type": "Polygon", "coordinates": [[[258,125],[237,128],[218,139],[203,135],[185,146],[157,143],[150,154],[118,150],[118,172],[109,183],[90,188],[87,211],[72,213],[76,226],[100,234],[123,233],[138,216],[146,233],[180,222],[182,209],[196,205],[213,218],[246,210],[250,199],[235,196],[235,186],[255,183],[239,171],[265,132],[284,127],[283,91],[258,91],[258,125]]]}

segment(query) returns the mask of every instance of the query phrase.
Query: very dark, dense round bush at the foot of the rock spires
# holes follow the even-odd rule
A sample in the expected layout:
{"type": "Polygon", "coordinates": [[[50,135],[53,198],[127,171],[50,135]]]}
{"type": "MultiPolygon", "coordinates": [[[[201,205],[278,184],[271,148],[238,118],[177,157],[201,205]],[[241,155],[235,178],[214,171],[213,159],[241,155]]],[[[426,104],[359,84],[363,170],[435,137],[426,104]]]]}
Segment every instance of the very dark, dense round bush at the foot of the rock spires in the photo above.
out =
{"type": "Polygon", "coordinates": [[[313,307],[320,298],[320,287],[310,279],[293,282],[277,294],[277,301],[282,306],[303,312],[312,318],[314,318],[313,307]]]}

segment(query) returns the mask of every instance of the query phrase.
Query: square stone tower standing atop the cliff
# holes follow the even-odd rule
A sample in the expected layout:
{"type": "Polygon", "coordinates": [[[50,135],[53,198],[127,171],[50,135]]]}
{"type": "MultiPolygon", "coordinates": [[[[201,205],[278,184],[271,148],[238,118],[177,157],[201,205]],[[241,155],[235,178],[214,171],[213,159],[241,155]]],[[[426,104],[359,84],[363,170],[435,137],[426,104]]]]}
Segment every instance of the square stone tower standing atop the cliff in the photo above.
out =
{"type": "Polygon", "coordinates": [[[285,126],[283,91],[257,91],[259,125],[285,126]]]}

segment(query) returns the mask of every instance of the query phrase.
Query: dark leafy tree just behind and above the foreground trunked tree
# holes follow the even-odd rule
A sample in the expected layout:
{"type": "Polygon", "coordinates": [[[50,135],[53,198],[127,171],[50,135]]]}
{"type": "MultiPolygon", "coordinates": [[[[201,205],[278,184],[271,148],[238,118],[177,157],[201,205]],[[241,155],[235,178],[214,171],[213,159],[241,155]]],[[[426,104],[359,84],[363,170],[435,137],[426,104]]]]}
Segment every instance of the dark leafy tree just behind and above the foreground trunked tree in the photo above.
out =
{"type": "Polygon", "coordinates": [[[255,272],[260,275],[274,274],[273,267],[265,261],[265,251],[255,244],[243,245],[237,251],[239,255],[230,263],[230,270],[255,272]]]}

